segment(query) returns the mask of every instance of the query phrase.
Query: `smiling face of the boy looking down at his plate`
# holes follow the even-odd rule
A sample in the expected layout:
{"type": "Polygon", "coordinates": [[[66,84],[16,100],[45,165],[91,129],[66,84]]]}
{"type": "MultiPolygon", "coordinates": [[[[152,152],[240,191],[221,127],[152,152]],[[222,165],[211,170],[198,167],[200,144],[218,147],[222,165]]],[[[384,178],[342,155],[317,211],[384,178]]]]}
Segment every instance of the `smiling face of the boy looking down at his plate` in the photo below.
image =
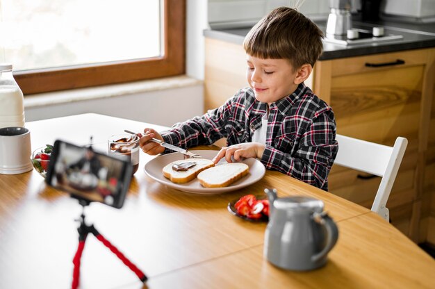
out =
{"type": "Polygon", "coordinates": [[[286,59],[262,59],[247,54],[246,78],[258,101],[271,104],[293,93],[299,81],[297,71],[286,59]]]}

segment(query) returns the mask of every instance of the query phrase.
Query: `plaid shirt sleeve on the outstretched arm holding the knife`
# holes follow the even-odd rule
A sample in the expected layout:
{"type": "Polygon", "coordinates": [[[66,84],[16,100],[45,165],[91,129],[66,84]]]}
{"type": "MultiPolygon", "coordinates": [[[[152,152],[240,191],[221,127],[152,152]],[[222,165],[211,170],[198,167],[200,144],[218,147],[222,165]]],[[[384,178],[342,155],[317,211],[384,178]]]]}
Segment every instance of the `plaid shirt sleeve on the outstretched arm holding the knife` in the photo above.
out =
{"type": "MultiPolygon", "coordinates": [[[[212,145],[217,140],[227,137],[226,125],[232,115],[234,98],[240,96],[240,91],[224,105],[208,113],[174,124],[170,131],[162,132],[165,142],[188,149],[197,145],[212,145]]],[[[167,151],[165,151],[167,152],[167,151]]]]}

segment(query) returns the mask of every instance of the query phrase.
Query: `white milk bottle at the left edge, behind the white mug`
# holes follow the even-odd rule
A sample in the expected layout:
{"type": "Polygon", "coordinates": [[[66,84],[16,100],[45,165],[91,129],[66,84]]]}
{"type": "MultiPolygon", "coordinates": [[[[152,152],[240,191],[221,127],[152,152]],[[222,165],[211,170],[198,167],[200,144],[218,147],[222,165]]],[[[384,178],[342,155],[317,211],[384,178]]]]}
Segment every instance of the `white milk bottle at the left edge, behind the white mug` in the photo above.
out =
{"type": "Polygon", "coordinates": [[[0,63],[0,128],[24,126],[24,98],[10,63],[0,63]]]}

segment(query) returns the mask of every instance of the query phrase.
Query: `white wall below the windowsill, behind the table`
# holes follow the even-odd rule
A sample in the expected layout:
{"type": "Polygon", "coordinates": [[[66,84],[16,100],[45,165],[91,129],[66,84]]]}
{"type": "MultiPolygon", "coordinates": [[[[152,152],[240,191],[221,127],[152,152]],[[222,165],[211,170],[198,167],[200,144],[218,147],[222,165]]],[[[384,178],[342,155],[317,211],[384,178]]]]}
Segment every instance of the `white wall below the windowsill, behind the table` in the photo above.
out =
{"type": "MultiPolygon", "coordinates": [[[[203,94],[203,85],[198,83],[183,88],[31,106],[25,109],[26,122],[80,113],[100,113],[161,126],[172,126],[195,115],[202,115],[203,94]]],[[[24,99],[24,102],[26,103],[27,100],[24,99]]]]}

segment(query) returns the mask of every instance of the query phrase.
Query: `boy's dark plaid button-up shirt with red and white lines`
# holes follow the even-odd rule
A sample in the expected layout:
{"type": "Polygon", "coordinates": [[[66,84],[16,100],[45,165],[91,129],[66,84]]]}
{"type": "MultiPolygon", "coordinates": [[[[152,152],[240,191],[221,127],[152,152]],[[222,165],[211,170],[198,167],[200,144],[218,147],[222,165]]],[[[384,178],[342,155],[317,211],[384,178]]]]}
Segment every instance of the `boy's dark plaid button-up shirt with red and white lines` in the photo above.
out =
{"type": "MultiPolygon", "coordinates": [[[[327,176],[338,151],[331,107],[302,83],[269,109],[261,162],[269,170],[327,190],[327,176]]],[[[257,101],[251,88],[243,88],[220,108],[174,124],[161,135],[165,142],[183,148],[211,145],[220,138],[227,138],[227,145],[251,142],[265,113],[267,104],[257,101]]]]}

